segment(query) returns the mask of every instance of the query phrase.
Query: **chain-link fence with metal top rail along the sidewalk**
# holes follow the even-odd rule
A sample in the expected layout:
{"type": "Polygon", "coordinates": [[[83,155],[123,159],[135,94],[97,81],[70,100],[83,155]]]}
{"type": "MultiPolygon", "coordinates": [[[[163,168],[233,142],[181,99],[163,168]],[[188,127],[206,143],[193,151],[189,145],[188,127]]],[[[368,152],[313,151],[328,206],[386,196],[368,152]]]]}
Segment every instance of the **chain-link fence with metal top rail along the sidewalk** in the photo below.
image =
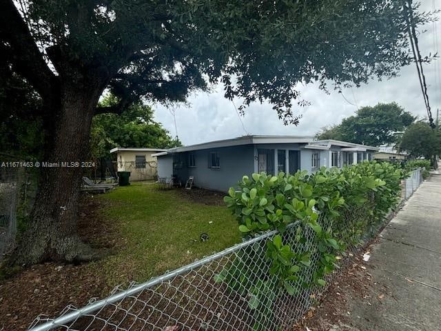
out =
{"type": "MultiPolygon", "coordinates": [[[[416,170],[403,181],[402,190],[413,192],[420,184],[418,178],[416,170]]],[[[340,267],[384,225],[369,222],[375,207],[369,199],[345,210],[338,225],[320,214],[322,228],[338,226],[340,232],[351,232],[359,221],[366,225],[362,240],[348,245],[338,257],[340,267]]],[[[327,286],[304,285],[314,279],[320,254],[310,254],[305,268],[295,270],[302,282],[289,281],[289,290],[280,287],[271,272],[267,248],[278,241],[283,242],[281,249],[290,245],[293,254],[318,251],[317,232],[312,228],[305,230],[305,241],[298,241],[299,222],[287,225],[283,234],[272,230],[145,283],[115,288],[110,297],[91,300],[83,308],[70,305],[57,318],[40,316],[30,330],[289,330],[327,286]]],[[[326,284],[334,277],[338,272],[325,275],[326,284]]]]}

